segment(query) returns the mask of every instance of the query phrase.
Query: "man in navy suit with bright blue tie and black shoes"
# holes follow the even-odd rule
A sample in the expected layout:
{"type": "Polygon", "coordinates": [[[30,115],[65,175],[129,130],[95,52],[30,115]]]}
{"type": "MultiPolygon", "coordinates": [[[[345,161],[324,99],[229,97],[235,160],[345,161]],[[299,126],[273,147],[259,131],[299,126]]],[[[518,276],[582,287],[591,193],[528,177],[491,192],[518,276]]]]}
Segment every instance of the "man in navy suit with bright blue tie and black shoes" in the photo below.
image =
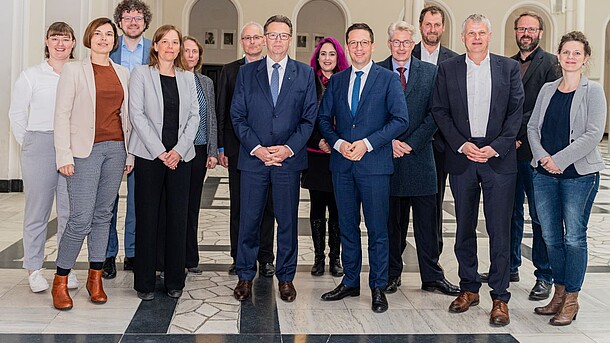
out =
{"type": "Polygon", "coordinates": [[[392,139],[409,124],[400,81],[371,60],[373,30],[356,23],[345,34],[352,67],[333,75],[318,114],[320,132],[333,147],[330,155],[345,276],[323,300],[360,295],[362,251],[360,204],[368,230],[372,309],[385,312],[388,281],[388,202],[392,139]]]}

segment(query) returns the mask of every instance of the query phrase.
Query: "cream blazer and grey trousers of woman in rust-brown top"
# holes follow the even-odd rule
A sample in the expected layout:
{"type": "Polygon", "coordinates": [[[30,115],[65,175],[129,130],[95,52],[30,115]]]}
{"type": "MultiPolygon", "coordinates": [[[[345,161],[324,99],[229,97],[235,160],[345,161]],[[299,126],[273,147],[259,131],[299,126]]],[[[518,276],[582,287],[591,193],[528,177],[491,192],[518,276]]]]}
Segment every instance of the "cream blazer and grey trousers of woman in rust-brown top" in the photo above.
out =
{"type": "MultiPolygon", "coordinates": [[[[131,134],[126,101],[129,72],[112,61],[110,67],[118,84],[109,79],[103,86],[108,91],[117,91],[117,96],[119,90],[122,93],[123,101],[118,109],[122,141],[95,142],[98,111],[95,73],[107,67],[94,67],[89,58],[67,63],[57,85],[54,118],[56,164],[58,169],[74,166],[74,174],[66,177],[70,216],[57,255],[57,266],[63,269],[73,267],[87,236],[89,261],[104,261],[112,207],[123,170],[126,164],[134,163],[133,156],[127,154],[131,134]],[[94,68],[100,69],[94,73],[94,68]]],[[[101,82],[104,82],[102,78],[101,82]]]]}

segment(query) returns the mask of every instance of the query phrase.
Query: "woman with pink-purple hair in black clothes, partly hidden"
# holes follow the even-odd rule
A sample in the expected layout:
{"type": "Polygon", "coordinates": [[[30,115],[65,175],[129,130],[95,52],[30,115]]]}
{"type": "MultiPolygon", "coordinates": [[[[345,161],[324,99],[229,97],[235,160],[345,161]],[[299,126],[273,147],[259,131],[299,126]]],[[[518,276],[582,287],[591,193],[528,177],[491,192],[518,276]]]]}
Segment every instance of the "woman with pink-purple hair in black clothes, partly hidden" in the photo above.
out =
{"type": "MultiPolygon", "coordinates": [[[[349,67],[349,64],[343,49],[341,49],[341,44],[332,37],[321,39],[318,42],[309,64],[316,75],[316,91],[319,103],[322,100],[324,89],[330,77],[334,73],[349,67]]],[[[309,222],[315,252],[315,261],[311,267],[311,274],[316,276],[324,274],[327,208],[330,273],[333,276],[343,275],[340,260],[339,219],[329,170],[330,149],[331,147],[322,137],[320,131],[318,131],[318,125],[316,124],[307,142],[308,168],[303,171],[301,182],[303,188],[309,189],[309,222]]]]}

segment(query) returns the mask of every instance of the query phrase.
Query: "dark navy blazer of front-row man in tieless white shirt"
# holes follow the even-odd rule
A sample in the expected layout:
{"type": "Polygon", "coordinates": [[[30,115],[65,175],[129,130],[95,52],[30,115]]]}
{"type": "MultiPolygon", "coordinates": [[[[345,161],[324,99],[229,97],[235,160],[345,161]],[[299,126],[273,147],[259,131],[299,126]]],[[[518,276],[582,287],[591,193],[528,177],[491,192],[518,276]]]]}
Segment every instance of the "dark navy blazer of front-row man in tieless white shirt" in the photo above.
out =
{"type": "MultiPolygon", "coordinates": [[[[518,62],[490,53],[491,104],[487,132],[480,146],[491,146],[498,157],[488,163],[496,173],[517,172],[515,138],[523,117],[523,85],[518,62]]],[[[441,63],[436,78],[432,115],[446,140],[445,169],[461,174],[469,161],[458,149],[471,141],[466,94],[466,54],[441,63]]]]}

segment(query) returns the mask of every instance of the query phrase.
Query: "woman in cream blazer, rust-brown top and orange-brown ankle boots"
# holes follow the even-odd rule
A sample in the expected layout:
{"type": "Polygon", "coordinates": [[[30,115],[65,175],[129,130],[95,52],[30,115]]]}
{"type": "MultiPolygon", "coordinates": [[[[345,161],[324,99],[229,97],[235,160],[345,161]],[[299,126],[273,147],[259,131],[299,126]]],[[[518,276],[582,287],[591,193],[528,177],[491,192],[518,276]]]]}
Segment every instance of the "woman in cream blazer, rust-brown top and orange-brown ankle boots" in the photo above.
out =
{"type": "Polygon", "coordinates": [[[112,208],[123,173],[133,167],[127,154],[131,125],[127,114],[129,71],[110,60],[118,43],[109,18],[94,19],[83,44],[90,58],[64,66],[55,102],[55,158],[66,176],[70,216],[57,252],[53,305],[72,308],[67,276],[87,237],[87,291],[94,303],[108,299],[102,286],[112,208]]]}

